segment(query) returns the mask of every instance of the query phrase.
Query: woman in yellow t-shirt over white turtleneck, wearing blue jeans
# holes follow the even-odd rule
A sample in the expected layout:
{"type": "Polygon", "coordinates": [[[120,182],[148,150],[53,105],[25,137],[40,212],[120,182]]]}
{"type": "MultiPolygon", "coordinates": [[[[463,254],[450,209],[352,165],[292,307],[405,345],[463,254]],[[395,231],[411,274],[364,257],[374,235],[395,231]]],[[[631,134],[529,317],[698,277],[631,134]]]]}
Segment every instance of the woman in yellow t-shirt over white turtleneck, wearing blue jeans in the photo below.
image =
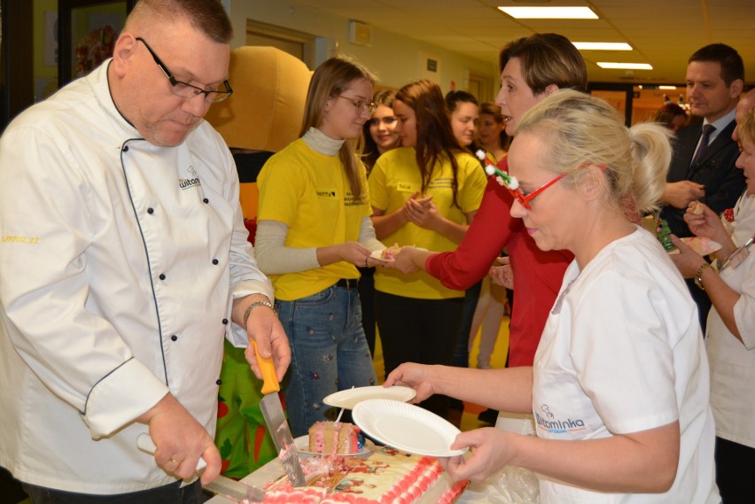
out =
{"type": "Polygon", "coordinates": [[[255,252],[291,345],[284,395],[295,436],[327,420],[323,398],[377,383],[356,266],[376,266],[357,140],[374,111],[370,71],[347,58],[315,70],[301,137],[262,168],[255,252]]]}

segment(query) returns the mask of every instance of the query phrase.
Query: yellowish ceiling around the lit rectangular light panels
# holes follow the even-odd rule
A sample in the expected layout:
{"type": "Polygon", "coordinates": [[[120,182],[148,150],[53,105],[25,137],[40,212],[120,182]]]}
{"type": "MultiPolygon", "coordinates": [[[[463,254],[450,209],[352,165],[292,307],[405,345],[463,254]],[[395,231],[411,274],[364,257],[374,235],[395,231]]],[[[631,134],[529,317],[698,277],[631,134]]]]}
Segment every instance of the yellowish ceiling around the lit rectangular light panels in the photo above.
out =
{"type": "Polygon", "coordinates": [[[497,61],[510,40],[554,32],[572,42],[625,42],[632,51],[583,50],[590,81],[683,83],[687,59],[727,43],[755,82],[755,0],[292,0],[472,58],[497,61]],[[499,5],[587,5],[600,19],[512,19],[499,5]],[[652,70],[605,70],[598,61],[650,63],[652,70]]]}

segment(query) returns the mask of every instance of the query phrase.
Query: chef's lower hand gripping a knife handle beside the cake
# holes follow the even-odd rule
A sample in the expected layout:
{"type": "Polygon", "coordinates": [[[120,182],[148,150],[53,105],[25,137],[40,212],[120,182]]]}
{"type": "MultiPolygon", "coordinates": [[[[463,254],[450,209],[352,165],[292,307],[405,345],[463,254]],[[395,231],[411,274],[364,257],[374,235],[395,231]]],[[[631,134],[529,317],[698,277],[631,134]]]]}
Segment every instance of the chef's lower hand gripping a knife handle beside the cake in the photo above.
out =
{"type": "Polygon", "coordinates": [[[213,438],[172,394],[168,393],[136,420],[149,425],[156,446],[155,462],[168,474],[191,480],[201,457],[207,462],[200,478],[202,485],[220,475],[221,455],[213,438]]]}

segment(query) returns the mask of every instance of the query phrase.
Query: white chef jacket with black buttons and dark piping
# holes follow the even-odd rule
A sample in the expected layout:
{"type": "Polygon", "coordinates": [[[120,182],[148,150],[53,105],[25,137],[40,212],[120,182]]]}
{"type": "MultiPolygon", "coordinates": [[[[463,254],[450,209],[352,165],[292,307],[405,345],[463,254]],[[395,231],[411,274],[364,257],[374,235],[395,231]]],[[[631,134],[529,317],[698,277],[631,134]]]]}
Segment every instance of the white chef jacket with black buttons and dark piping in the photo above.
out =
{"type": "Polygon", "coordinates": [[[175,482],[133,420],[171,392],[213,436],[223,336],[248,343],[232,300],[273,294],[221,136],[146,142],[108,65],[0,139],[0,465],[101,494],[175,482]]]}

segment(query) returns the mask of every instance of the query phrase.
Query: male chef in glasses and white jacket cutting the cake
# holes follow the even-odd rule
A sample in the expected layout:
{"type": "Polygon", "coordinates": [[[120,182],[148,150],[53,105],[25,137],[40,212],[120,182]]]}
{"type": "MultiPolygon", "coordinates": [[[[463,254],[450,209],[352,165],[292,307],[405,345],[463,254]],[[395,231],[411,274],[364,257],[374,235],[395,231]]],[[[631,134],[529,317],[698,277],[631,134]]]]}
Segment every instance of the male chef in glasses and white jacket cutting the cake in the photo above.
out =
{"type": "Polygon", "coordinates": [[[0,466],[35,504],[198,501],[223,337],[288,366],[202,119],[232,92],[231,37],[219,1],[140,0],[112,59],[0,138],[0,466]]]}

